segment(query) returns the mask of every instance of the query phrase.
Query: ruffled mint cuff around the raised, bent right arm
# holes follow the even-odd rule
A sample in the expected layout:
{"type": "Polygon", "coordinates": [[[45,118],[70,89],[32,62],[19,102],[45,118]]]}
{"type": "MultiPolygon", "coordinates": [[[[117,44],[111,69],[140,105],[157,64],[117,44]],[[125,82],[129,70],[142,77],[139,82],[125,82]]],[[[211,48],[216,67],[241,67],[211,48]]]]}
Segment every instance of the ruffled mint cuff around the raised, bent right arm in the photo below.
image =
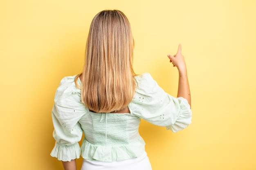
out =
{"type": "Polygon", "coordinates": [[[186,99],[183,97],[177,98],[180,103],[180,113],[178,114],[178,118],[175,121],[175,124],[171,126],[166,126],[166,129],[170,129],[173,132],[177,132],[179,130],[182,130],[191,124],[192,119],[192,111],[190,109],[190,105],[186,99]]]}

